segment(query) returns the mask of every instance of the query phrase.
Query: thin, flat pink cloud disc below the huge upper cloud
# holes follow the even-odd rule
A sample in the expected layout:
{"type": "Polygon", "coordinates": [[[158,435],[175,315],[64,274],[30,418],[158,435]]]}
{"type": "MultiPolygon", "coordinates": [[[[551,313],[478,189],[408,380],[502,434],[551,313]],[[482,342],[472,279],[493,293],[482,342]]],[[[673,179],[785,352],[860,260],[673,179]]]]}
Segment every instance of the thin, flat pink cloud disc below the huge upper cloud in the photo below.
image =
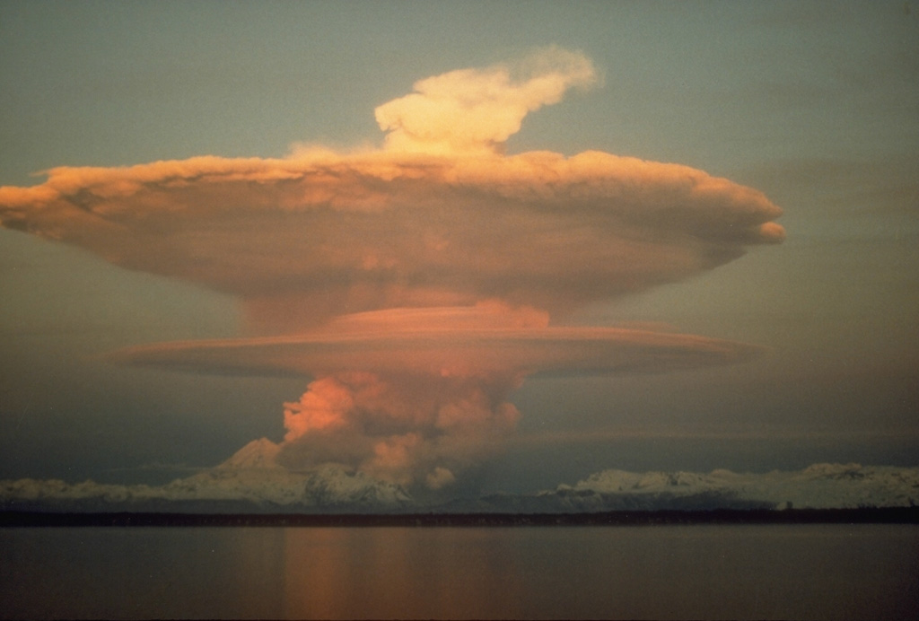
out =
{"type": "Polygon", "coordinates": [[[524,317],[532,311],[508,311],[508,324],[502,325],[501,312],[481,308],[380,310],[347,315],[312,333],[141,345],[112,357],[131,364],[242,375],[316,376],[360,369],[490,378],[660,372],[733,363],[761,351],[691,334],[527,324],[524,317]]]}

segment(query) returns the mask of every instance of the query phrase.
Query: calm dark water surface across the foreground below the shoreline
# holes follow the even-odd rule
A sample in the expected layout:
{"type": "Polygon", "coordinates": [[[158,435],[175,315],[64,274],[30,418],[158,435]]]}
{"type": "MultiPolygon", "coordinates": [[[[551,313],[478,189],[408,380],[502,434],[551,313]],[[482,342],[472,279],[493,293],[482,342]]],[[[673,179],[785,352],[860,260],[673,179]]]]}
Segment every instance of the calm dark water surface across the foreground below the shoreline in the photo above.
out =
{"type": "Polygon", "coordinates": [[[0,529],[0,615],[919,618],[919,526],[0,529]]]}

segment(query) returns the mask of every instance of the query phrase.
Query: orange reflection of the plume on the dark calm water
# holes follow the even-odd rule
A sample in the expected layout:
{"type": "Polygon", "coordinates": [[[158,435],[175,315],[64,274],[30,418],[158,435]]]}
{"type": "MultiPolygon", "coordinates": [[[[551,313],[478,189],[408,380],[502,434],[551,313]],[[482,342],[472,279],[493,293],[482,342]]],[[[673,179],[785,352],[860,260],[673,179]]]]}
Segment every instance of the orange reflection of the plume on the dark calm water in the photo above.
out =
{"type": "Polygon", "coordinates": [[[515,531],[500,530],[288,529],[285,615],[518,616],[515,531]]]}

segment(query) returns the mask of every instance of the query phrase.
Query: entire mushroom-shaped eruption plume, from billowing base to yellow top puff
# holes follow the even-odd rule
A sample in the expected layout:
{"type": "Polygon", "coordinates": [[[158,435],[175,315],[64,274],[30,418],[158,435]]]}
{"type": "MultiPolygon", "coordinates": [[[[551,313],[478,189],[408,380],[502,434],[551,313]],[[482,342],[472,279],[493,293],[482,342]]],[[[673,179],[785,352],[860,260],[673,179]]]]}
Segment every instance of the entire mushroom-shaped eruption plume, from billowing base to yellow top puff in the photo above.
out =
{"type": "Polygon", "coordinates": [[[417,82],[377,108],[379,150],[59,167],[0,188],[0,221],[240,299],[246,338],[113,357],[312,378],[285,405],[279,463],[438,488],[513,431],[506,396],[528,375],[754,352],[564,324],[784,236],[761,193],[687,166],[503,152],[529,112],[596,81],[583,54],[549,48],[417,82]]]}

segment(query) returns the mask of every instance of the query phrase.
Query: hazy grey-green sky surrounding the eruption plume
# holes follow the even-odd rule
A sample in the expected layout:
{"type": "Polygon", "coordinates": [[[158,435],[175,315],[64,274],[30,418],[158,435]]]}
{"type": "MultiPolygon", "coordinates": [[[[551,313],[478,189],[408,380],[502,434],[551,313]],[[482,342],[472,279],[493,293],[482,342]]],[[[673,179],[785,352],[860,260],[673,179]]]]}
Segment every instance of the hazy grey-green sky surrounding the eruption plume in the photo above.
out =
{"type": "MultiPolygon", "coordinates": [[[[277,157],[380,144],[421,78],[558,44],[604,84],[528,116],[508,151],[686,164],[785,209],[786,243],[620,299],[772,348],[739,367],[531,380],[521,444],[483,485],[605,468],[919,465],[919,6],[891,3],[0,3],[0,185],[56,165],[277,157]]],[[[232,299],[0,231],[0,478],[159,480],[283,430],[294,380],[86,361],[227,336],[232,299]],[[153,469],[150,467],[153,466],[153,469]]]]}

